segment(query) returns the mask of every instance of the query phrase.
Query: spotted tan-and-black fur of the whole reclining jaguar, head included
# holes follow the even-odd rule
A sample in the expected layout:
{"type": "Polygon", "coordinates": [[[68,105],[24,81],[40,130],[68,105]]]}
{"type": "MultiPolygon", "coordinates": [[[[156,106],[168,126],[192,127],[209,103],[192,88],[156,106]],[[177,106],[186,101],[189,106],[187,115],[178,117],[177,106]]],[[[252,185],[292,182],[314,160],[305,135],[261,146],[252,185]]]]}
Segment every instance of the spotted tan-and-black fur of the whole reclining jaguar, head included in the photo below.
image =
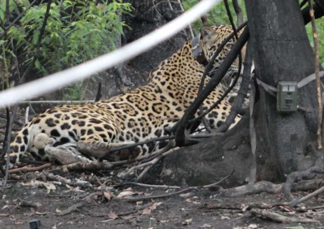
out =
{"type": "MultiPolygon", "coordinates": [[[[208,60],[231,32],[232,29],[225,25],[201,29],[200,43],[208,60]]],[[[53,152],[61,155],[61,147],[67,147],[76,161],[90,161],[115,147],[167,135],[166,127],[173,126],[197,96],[205,71],[204,65],[194,60],[191,43],[186,42],[178,52],[161,62],[144,86],[99,102],[57,106],[37,115],[17,133],[11,144],[11,158],[17,163],[29,151],[37,160],[51,161],[53,152]]],[[[215,69],[233,43],[231,40],[216,58],[215,69]]],[[[230,71],[237,71],[237,65],[235,60],[230,71]]],[[[208,109],[222,93],[221,88],[215,88],[205,100],[203,110],[208,109]]],[[[230,109],[225,98],[206,118],[212,127],[217,128],[230,109]]],[[[239,119],[237,116],[235,123],[239,119]]],[[[163,147],[165,143],[159,144],[163,147]]],[[[132,153],[126,152],[124,156],[119,152],[117,159],[147,154],[154,147],[152,144],[144,145],[132,153]]],[[[74,162],[61,160],[58,156],[54,158],[61,163],[74,162]]]]}

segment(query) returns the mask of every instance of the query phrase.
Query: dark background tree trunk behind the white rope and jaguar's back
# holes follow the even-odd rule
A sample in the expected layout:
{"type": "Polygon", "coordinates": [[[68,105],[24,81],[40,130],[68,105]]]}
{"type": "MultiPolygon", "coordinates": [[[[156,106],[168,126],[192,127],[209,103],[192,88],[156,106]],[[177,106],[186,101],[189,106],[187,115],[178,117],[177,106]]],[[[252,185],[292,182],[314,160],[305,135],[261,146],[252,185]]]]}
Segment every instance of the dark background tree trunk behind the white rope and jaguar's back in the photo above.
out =
{"type": "MultiPolygon", "coordinates": [[[[132,4],[134,11],[131,15],[122,16],[123,21],[130,28],[124,29],[125,35],[121,35],[120,45],[146,35],[181,13],[178,4],[172,4],[171,8],[167,1],[163,0],[128,0],[126,2],[132,4]]],[[[131,61],[106,71],[103,81],[103,97],[112,97],[144,85],[150,71],[180,49],[186,40],[187,37],[183,33],[178,33],[131,61]]]]}

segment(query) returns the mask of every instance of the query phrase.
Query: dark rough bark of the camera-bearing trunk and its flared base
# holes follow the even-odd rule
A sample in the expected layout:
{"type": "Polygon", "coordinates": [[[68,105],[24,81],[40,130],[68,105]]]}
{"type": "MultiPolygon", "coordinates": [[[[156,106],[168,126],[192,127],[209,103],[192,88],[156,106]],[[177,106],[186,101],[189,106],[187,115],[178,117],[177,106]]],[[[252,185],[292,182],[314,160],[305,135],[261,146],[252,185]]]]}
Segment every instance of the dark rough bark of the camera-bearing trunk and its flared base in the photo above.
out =
{"type": "MultiPolygon", "coordinates": [[[[278,81],[299,81],[314,72],[313,52],[297,1],[246,0],[246,6],[256,73],[261,80],[276,86],[278,81]]],[[[322,162],[321,152],[316,150],[315,83],[301,88],[299,95],[299,104],[308,112],[279,114],[275,99],[260,88],[255,106],[259,180],[284,179],[285,174],[322,162]]],[[[224,136],[181,148],[154,172],[160,172],[160,182],[194,186],[215,182],[235,169],[224,185],[233,186],[245,182],[250,166],[245,118],[224,136]]]]}

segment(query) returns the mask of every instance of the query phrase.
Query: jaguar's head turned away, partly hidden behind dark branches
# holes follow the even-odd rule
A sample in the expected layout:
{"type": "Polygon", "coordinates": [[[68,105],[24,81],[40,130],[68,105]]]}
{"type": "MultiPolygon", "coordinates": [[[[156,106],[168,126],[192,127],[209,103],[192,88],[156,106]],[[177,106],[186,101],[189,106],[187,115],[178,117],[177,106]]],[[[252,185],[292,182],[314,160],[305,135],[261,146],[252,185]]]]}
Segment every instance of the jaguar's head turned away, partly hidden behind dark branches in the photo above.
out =
{"type": "MultiPolygon", "coordinates": [[[[231,33],[233,29],[230,25],[216,25],[216,26],[203,26],[200,29],[200,45],[203,50],[207,61],[210,61],[214,56],[219,45],[225,40],[231,33]]],[[[239,33],[240,34],[240,33],[239,33]]],[[[226,55],[231,50],[236,39],[233,37],[224,46],[220,54],[216,57],[213,65],[213,71],[216,71],[220,64],[225,59],[226,55]]],[[[245,56],[245,48],[242,50],[242,58],[245,56]]],[[[230,69],[226,73],[227,76],[232,76],[238,71],[239,61],[238,58],[235,59],[230,69]]],[[[211,73],[210,73],[211,75],[211,73]]]]}

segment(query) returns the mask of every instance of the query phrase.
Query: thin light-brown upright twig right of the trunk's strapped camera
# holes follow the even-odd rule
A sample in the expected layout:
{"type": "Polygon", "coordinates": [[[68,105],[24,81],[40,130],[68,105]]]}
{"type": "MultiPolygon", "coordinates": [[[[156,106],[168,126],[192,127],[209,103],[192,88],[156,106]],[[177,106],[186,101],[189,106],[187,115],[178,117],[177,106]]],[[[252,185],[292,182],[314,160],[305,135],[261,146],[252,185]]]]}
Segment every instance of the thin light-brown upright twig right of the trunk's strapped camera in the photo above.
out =
{"type": "Polygon", "coordinates": [[[315,17],[314,17],[314,9],[312,5],[312,1],[308,0],[309,5],[309,14],[312,23],[313,29],[313,40],[314,40],[314,52],[315,52],[315,75],[316,75],[316,93],[317,93],[317,149],[321,150],[322,147],[322,115],[323,115],[323,107],[321,102],[321,93],[320,93],[320,80],[319,80],[319,60],[318,60],[318,35],[316,33],[316,25],[315,25],[315,17]]]}

